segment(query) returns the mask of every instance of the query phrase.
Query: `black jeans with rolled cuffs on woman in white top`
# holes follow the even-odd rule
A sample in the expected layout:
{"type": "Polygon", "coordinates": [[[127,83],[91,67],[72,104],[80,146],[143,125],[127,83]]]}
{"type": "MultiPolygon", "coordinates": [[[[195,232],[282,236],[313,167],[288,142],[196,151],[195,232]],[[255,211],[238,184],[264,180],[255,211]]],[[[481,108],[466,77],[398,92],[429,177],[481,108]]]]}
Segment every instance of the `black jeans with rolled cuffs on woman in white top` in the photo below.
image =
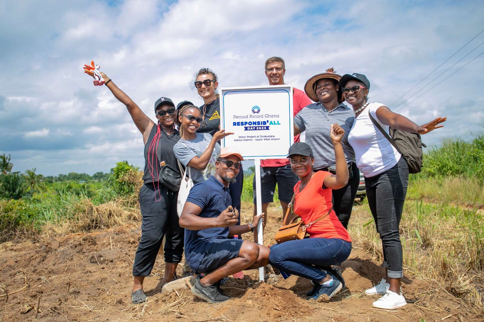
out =
{"type": "MultiPolygon", "coordinates": [[[[383,267],[389,278],[403,277],[403,251],[398,226],[407,195],[408,164],[403,157],[393,168],[365,177],[366,196],[383,246],[383,267]]],[[[388,281],[387,281],[388,282],[388,281]]]]}

